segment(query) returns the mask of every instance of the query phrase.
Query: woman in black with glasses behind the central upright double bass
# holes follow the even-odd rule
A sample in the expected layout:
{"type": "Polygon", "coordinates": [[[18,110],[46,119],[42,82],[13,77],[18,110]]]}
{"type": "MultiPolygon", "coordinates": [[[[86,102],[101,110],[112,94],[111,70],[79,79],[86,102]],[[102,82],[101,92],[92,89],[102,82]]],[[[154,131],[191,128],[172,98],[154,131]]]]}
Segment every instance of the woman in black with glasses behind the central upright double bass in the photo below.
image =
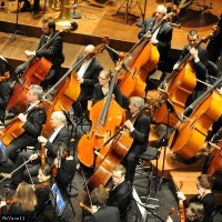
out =
{"type": "MultiPolygon", "coordinates": [[[[111,70],[102,70],[100,72],[98,77],[99,83],[97,83],[93,89],[92,104],[94,104],[99,100],[102,100],[109,93],[111,78],[112,78],[111,70]]],[[[118,104],[122,107],[123,98],[118,84],[114,84],[113,87],[113,95],[118,104]]]]}

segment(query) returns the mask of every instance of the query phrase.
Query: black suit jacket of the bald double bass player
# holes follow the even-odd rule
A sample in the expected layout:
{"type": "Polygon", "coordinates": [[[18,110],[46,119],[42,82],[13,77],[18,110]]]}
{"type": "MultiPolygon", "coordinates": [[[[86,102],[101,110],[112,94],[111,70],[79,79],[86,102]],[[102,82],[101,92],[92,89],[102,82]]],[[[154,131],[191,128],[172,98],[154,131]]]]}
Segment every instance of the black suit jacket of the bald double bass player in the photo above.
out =
{"type": "MultiPolygon", "coordinates": [[[[82,57],[79,57],[77,62],[80,59],[82,59],[82,57]]],[[[79,69],[77,70],[77,72],[79,71],[79,69]]],[[[98,75],[102,69],[103,68],[99,63],[99,61],[93,58],[82,77],[84,81],[80,84],[80,95],[78,98],[78,101],[92,99],[93,87],[98,82],[98,75]]]]}

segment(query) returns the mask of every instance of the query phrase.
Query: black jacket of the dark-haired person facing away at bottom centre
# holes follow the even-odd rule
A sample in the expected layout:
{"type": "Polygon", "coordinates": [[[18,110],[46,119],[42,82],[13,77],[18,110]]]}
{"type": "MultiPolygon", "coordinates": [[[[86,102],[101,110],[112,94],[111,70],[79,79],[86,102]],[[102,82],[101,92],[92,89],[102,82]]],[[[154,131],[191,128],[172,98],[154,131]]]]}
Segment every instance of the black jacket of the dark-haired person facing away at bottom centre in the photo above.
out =
{"type": "Polygon", "coordinates": [[[95,213],[84,218],[84,222],[120,222],[118,208],[102,205],[95,213]]]}

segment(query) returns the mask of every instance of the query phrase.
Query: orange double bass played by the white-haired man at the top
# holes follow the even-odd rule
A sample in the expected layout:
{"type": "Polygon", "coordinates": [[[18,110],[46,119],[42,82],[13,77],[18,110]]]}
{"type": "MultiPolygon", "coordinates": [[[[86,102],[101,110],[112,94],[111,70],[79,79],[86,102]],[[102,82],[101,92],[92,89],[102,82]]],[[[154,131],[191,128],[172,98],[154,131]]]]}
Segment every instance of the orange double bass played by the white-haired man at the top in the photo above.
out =
{"type": "Polygon", "coordinates": [[[117,82],[127,97],[143,97],[148,73],[155,68],[160,58],[158,48],[150,42],[150,38],[173,13],[165,14],[125,56],[123,67],[128,71],[122,71],[117,82]]]}

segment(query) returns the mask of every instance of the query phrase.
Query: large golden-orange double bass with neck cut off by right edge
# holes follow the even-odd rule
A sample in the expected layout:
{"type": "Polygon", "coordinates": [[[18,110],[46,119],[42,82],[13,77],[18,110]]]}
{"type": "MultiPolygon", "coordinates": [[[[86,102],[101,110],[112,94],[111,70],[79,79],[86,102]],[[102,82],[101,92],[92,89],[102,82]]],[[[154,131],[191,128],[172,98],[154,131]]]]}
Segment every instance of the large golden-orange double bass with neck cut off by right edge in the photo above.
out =
{"type": "Polygon", "coordinates": [[[220,107],[222,94],[215,89],[221,82],[222,78],[184,110],[184,113],[193,111],[183,123],[176,125],[170,137],[170,149],[185,160],[191,159],[199,151],[209,128],[222,114],[220,107]]]}

